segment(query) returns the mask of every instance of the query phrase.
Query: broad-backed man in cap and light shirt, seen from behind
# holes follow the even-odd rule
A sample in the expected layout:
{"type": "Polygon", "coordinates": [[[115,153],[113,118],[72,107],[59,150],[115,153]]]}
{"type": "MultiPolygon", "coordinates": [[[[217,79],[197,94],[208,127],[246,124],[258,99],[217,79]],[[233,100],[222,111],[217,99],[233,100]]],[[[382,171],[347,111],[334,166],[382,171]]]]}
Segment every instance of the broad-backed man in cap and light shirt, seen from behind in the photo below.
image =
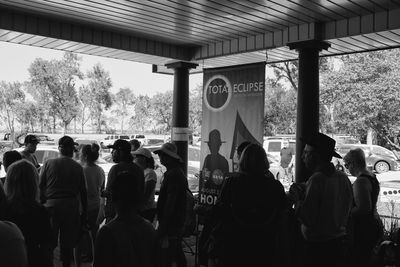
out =
{"type": "Polygon", "coordinates": [[[71,137],[61,137],[58,141],[60,156],[47,160],[39,176],[40,201],[49,211],[54,248],[60,240],[63,266],[71,265],[81,225],[87,221],[84,172],[72,158],[75,145],[71,137]]]}

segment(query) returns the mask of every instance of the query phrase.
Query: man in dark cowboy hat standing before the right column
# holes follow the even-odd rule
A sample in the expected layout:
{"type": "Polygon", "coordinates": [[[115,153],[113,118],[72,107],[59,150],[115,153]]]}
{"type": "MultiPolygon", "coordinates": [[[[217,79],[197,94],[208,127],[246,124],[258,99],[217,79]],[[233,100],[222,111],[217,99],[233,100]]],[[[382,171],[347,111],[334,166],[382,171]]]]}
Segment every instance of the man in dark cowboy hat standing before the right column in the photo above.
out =
{"type": "Polygon", "coordinates": [[[305,184],[295,183],[289,189],[305,239],[304,266],[344,266],[353,206],[351,182],[331,162],[332,157],[341,158],[334,139],[317,133],[305,143],[302,160],[312,175],[305,184]]]}

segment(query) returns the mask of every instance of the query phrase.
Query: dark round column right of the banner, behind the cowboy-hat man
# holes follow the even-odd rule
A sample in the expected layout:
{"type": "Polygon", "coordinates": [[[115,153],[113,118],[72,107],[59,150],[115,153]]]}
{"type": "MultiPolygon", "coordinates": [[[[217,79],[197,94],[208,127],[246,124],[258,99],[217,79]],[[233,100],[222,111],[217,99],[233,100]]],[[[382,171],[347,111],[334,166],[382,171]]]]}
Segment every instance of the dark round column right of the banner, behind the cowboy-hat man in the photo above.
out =
{"type": "Polygon", "coordinates": [[[295,179],[304,182],[310,175],[301,160],[304,140],[319,131],[319,51],[330,44],[310,40],[288,46],[299,52],[295,179]]]}

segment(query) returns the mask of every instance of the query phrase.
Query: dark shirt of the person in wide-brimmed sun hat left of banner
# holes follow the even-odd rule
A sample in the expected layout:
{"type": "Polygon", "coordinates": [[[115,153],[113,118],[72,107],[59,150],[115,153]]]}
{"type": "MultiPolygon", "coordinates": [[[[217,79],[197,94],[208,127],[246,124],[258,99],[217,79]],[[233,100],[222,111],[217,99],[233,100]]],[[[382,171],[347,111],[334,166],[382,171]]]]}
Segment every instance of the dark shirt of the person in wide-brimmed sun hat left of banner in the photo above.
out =
{"type": "Polygon", "coordinates": [[[160,194],[157,201],[157,218],[160,227],[168,234],[175,234],[183,227],[186,211],[186,189],[188,182],[182,169],[174,167],[164,173],[160,194]],[[173,210],[168,210],[169,195],[175,196],[171,203],[173,210]]]}

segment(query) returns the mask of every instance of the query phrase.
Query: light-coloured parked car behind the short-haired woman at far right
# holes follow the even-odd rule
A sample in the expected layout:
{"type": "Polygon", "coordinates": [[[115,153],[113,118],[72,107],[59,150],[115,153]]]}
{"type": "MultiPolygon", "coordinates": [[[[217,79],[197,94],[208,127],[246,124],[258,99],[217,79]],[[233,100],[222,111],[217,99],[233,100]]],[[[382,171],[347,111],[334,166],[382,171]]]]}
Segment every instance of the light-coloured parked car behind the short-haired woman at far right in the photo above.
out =
{"type": "MultiPolygon", "coordinates": [[[[367,167],[377,173],[399,171],[400,160],[397,156],[382,146],[366,144],[338,144],[336,151],[344,157],[351,149],[361,148],[365,153],[367,167]]],[[[342,160],[339,162],[344,166],[342,160]]]]}

